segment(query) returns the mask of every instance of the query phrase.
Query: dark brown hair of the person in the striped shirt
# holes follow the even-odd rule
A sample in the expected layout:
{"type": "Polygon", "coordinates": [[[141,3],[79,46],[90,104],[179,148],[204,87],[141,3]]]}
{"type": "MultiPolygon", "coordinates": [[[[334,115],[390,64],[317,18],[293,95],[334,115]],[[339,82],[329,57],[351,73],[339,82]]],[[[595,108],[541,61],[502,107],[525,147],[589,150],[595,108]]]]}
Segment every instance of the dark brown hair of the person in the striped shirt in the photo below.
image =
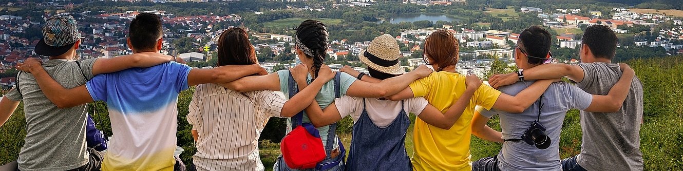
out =
{"type": "Polygon", "coordinates": [[[218,38],[218,66],[256,64],[256,53],[245,29],[232,27],[218,38]]]}

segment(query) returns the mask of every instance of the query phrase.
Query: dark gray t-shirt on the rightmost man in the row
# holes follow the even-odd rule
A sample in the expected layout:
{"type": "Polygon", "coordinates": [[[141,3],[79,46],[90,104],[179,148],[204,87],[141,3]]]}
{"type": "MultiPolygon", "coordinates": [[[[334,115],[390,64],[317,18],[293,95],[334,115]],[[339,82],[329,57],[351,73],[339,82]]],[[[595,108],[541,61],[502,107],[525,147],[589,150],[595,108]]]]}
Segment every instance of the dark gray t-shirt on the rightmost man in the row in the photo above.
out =
{"type": "MultiPolygon", "coordinates": [[[[576,86],[605,95],[622,76],[618,64],[581,63],[585,75],[576,86]]],[[[622,109],[613,113],[581,111],[581,154],[586,170],[643,170],[640,127],[643,120],[643,84],[634,77],[622,109]]]]}

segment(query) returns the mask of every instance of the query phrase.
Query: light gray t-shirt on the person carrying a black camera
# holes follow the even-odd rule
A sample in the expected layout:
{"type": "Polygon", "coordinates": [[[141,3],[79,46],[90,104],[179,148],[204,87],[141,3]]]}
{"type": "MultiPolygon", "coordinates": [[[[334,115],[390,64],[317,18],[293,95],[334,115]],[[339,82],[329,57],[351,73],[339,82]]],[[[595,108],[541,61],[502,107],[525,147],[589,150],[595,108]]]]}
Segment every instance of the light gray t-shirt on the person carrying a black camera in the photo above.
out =
{"type": "MultiPolygon", "coordinates": [[[[510,86],[503,86],[499,90],[505,94],[515,96],[525,88],[531,86],[533,81],[520,81],[510,86]]],[[[586,109],[591,105],[593,96],[566,82],[550,84],[548,90],[543,93],[541,101],[536,101],[520,114],[511,114],[505,111],[479,108],[480,114],[485,117],[499,115],[503,140],[520,139],[522,134],[529,128],[534,120],[539,118],[540,124],[546,127],[546,135],[550,137],[550,146],[544,150],[538,149],[520,141],[505,141],[503,148],[498,154],[498,168],[501,170],[561,170],[559,159],[559,134],[562,129],[564,116],[569,109],[586,109]],[[539,104],[540,103],[540,104],[539,104]]]]}

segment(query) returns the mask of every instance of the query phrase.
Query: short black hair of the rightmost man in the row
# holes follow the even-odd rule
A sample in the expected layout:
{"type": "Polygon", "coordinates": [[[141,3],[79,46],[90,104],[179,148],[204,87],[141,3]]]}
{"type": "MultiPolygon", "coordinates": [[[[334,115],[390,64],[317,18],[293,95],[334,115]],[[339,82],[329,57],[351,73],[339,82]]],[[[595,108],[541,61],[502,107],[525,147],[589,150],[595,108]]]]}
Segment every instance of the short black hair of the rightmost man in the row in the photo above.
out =
{"type": "Polygon", "coordinates": [[[612,60],[617,51],[617,35],[607,26],[592,25],[583,33],[581,44],[588,45],[595,57],[612,60]]]}

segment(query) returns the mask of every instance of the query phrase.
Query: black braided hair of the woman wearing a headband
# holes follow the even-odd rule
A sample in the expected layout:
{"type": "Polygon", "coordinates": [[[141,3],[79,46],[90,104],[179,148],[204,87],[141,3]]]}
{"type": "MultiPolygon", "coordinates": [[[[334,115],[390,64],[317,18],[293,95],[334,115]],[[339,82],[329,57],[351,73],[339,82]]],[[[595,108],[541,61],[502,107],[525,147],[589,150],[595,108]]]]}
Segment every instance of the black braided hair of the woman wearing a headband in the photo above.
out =
{"type": "MultiPolygon", "coordinates": [[[[328,36],[327,28],[320,21],[306,20],[296,27],[296,38],[313,53],[312,56],[308,54],[306,56],[313,58],[311,69],[313,69],[313,73],[316,73],[316,77],[318,77],[320,66],[322,66],[322,62],[325,60],[328,36]]],[[[299,47],[300,50],[301,48],[299,47]]]]}

